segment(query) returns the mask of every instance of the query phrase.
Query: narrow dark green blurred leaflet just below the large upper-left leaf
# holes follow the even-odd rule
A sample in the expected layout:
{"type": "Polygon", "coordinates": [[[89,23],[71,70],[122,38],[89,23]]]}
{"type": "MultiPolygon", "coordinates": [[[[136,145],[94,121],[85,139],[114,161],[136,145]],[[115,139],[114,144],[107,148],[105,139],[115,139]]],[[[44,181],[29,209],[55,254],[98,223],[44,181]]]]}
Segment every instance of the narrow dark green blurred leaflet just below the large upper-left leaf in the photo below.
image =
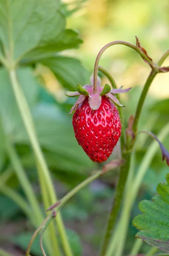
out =
{"type": "Polygon", "coordinates": [[[57,52],[65,49],[77,48],[79,47],[79,44],[82,44],[82,40],[79,38],[79,33],[72,29],[66,29],[55,39],[55,41],[49,42],[44,46],[37,47],[31,50],[31,52],[28,52],[21,63],[36,63],[45,58],[54,57],[57,52]]]}

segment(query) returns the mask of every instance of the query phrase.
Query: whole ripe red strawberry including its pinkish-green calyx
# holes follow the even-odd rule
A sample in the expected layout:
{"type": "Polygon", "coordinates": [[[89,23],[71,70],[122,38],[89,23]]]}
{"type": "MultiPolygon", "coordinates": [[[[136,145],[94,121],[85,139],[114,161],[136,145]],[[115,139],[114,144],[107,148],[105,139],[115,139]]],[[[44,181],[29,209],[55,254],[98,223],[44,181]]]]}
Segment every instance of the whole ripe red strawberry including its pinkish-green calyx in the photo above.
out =
{"type": "MultiPolygon", "coordinates": [[[[92,82],[92,81],[91,81],[92,82]]],[[[115,93],[126,93],[131,88],[111,90],[108,84],[93,93],[92,85],[77,84],[76,92],[65,92],[67,96],[79,96],[70,113],[76,140],[93,162],[105,162],[121,136],[121,121],[115,106],[123,107],[115,93]]]]}

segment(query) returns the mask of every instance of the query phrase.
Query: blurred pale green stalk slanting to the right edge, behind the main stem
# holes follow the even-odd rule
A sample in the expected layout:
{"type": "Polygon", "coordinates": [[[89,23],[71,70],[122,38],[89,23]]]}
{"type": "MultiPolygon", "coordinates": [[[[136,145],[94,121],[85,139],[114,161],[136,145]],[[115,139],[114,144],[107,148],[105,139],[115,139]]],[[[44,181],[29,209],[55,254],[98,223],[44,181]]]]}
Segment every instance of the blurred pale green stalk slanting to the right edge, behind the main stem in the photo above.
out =
{"type": "MultiPolygon", "coordinates": [[[[167,123],[163,127],[163,129],[160,131],[160,133],[158,134],[158,139],[162,142],[168,134],[169,134],[169,123],[167,123]]],[[[149,146],[148,150],[146,151],[144,158],[141,161],[141,165],[138,169],[138,172],[135,178],[131,180],[130,185],[128,186],[128,191],[126,192],[126,198],[124,200],[124,207],[121,212],[121,219],[120,219],[121,225],[119,226],[120,228],[123,228],[123,233],[121,233],[121,236],[119,236],[118,238],[119,243],[118,243],[118,252],[116,253],[116,256],[121,256],[123,253],[132,206],[135,202],[135,198],[138,195],[138,191],[141,186],[144,175],[146,174],[146,171],[149,168],[149,165],[152,162],[152,159],[155,156],[158,149],[159,149],[158,143],[156,141],[153,141],[149,146]]]]}

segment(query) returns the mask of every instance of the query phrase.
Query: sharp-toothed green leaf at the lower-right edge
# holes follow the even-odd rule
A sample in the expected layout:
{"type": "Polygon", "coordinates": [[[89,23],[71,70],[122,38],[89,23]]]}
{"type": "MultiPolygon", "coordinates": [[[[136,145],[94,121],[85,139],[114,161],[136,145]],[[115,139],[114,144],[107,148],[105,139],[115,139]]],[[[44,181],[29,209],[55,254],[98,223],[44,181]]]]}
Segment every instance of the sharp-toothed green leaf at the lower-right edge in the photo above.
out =
{"type": "Polygon", "coordinates": [[[139,208],[144,214],[136,216],[132,224],[144,230],[136,234],[137,238],[169,252],[169,174],[166,181],[158,184],[158,195],[152,201],[140,202],[139,208]]]}

